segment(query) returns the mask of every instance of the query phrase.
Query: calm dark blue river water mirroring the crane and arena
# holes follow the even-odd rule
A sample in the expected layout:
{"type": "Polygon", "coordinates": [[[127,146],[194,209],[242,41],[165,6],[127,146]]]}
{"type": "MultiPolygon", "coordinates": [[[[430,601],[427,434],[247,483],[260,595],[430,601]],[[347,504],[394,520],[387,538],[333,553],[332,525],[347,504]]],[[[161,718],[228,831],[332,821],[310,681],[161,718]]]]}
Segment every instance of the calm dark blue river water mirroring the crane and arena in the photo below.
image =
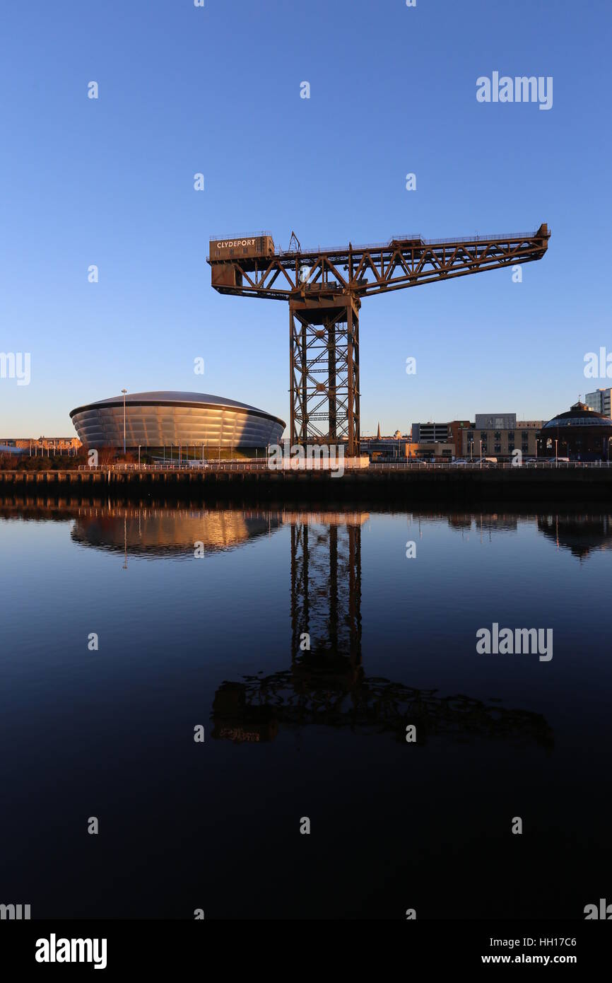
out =
{"type": "Polygon", "coordinates": [[[0,901],[583,918],[612,891],[611,547],[597,514],[5,502],[0,901]],[[476,654],[494,621],[552,660],[476,654]]]}

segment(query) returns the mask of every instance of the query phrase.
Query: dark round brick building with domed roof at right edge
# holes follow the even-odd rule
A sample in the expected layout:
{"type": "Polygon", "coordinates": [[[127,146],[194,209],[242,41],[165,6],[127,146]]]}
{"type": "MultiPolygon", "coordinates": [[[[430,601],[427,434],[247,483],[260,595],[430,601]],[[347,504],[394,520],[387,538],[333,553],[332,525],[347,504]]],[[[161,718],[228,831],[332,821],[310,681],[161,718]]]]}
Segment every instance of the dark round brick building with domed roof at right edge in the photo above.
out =
{"type": "Polygon", "coordinates": [[[574,403],[565,413],[544,424],[538,441],[541,457],[569,457],[575,461],[610,459],[612,419],[586,406],[574,403]]]}

